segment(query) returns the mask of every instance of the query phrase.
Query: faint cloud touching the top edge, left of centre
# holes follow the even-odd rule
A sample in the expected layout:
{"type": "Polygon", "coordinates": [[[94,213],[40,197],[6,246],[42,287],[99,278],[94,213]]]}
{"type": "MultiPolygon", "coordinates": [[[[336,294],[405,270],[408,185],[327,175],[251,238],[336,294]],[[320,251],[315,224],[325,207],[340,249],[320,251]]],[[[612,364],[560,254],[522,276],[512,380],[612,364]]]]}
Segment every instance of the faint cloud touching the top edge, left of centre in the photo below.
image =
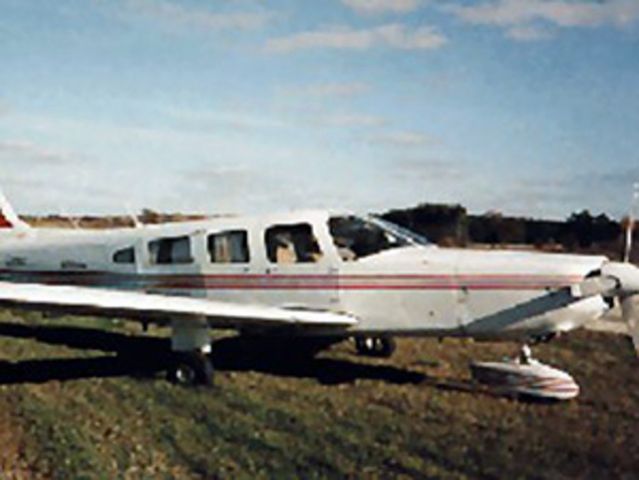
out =
{"type": "Polygon", "coordinates": [[[125,5],[129,12],[167,25],[202,30],[253,30],[272,18],[272,14],[265,11],[217,13],[166,0],[126,0],[125,5]]]}

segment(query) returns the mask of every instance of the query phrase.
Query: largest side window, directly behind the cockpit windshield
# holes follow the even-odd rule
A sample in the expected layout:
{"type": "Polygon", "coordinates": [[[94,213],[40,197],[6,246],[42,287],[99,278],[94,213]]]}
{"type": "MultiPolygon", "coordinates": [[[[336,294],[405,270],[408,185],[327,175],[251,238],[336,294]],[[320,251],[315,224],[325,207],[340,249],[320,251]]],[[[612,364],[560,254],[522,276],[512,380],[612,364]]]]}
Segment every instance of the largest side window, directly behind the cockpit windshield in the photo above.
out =
{"type": "Polygon", "coordinates": [[[316,263],[322,251],[307,223],[275,225],[266,230],[266,252],[271,263],[316,263]]]}

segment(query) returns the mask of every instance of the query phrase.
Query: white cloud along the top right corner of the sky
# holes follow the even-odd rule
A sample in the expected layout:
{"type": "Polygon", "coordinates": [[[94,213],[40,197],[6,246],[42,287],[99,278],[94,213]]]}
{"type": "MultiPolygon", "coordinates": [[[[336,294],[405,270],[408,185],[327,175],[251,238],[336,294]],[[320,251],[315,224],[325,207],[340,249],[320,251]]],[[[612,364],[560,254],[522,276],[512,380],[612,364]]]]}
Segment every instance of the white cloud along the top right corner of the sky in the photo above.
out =
{"type": "Polygon", "coordinates": [[[559,27],[621,27],[639,19],[637,0],[491,0],[444,8],[466,23],[501,27],[530,25],[535,21],[559,27]]]}

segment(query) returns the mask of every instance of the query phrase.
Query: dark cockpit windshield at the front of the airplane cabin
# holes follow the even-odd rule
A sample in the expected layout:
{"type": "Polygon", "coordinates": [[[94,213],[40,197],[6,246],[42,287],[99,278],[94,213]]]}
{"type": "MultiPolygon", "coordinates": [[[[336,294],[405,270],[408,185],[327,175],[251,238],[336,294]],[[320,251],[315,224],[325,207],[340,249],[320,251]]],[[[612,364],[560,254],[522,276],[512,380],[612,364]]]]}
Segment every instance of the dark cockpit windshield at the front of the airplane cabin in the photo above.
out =
{"type": "Polygon", "coordinates": [[[424,237],[378,217],[332,217],[329,228],[344,261],[355,261],[384,250],[428,245],[424,237]]]}

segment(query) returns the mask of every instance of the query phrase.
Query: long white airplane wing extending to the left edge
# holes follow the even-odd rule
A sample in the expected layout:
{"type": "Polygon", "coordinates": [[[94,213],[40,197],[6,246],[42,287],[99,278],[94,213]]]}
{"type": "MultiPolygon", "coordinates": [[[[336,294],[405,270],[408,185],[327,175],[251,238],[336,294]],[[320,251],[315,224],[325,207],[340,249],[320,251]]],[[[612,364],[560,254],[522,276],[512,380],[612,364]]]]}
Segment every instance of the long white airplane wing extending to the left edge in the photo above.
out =
{"type": "Polygon", "coordinates": [[[348,328],[357,319],[345,314],[244,305],[200,298],[28,283],[0,282],[0,307],[55,313],[120,317],[168,324],[201,321],[214,328],[348,328]]]}

